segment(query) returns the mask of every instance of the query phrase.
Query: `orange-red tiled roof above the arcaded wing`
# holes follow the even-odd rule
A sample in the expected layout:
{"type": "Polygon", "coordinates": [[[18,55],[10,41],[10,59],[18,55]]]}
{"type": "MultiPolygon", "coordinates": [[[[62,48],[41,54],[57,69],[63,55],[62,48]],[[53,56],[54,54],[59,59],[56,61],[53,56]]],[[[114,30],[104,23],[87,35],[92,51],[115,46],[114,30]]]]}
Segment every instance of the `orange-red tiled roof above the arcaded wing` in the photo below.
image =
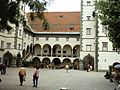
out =
{"type": "MultiPolygon", "coordinates": [[[[44,30],[42,21],[35,19],[28,23],[35,32],[80,32],[80,12],[44,12],[49,23],[49,29],[44,30]]],[[[30,16],[30,13],[27,13],[30,16]]]]}

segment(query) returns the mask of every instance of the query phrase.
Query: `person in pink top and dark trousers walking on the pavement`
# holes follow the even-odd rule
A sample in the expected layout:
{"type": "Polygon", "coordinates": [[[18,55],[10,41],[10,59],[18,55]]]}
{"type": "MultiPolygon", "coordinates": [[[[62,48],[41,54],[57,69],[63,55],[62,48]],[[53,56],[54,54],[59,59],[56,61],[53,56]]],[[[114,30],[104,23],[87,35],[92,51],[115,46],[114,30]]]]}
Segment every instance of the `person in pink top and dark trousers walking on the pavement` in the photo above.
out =
{"type": "Polygon", "coordinates": [[[33,87],[38,86],[38,78],[39,78],[39,67],[36,67],[33,72],[33,87]]]}

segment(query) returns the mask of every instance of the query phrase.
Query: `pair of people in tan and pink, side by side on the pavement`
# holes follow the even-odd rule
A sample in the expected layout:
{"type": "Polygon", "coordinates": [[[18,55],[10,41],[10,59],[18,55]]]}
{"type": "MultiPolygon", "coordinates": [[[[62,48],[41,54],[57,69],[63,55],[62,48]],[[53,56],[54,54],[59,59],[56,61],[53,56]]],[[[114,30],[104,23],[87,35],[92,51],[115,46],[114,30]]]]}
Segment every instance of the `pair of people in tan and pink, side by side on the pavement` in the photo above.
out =
{"type": "MultiPolygon", "coordinates": [[[[26,69],[24,67],[21,67],[18,74],[19,74],[20,86],[22,86],[23,82],[26,79],[26,69]]],[[[39,78],[39,67],[36,67],[33,72],[33,87],[38,86],[38,78],[39,78]]]]}

